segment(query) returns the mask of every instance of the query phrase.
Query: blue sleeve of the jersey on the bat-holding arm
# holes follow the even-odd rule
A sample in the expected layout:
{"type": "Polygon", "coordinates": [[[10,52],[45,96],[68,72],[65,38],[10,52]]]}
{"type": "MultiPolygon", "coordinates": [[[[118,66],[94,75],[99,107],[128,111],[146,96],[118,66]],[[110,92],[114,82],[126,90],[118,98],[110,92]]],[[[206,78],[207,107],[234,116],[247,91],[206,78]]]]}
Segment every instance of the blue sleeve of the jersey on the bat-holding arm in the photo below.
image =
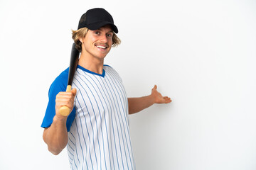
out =
{"type": "MultiPolygon", "coordinates": [[[[68,85],[68,69],[62,72],[54,81],[53,84],[50,85],[50,89],[48,92],[49,101],[48,106],[46,108],[46,114],[43,118],[43,123],[41,125],[42,128],[48,128],[53,123],[53,117],[55,116],[55,98],[56,95],[60,91],[66,91],[66,87],[68,85]]],[[[70,115],[68,115],[67,119],[67,130],[70,131],[70,127],[75,118],[75,107],[73,111],[71,111],[70,115]]]]}

